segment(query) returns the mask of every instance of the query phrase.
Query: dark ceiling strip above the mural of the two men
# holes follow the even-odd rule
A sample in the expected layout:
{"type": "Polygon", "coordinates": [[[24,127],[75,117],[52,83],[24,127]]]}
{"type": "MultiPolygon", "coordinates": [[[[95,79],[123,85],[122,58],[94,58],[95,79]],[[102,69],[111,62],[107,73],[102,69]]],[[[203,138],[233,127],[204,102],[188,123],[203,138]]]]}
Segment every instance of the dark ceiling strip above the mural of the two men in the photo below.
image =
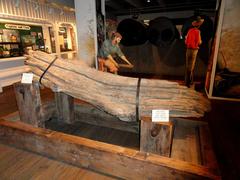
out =
{"type": "Polygon", "coordinates": [[[115,16],[186,10],[214,10],[219,0],[105,0],[107,13],[115,16]]]}

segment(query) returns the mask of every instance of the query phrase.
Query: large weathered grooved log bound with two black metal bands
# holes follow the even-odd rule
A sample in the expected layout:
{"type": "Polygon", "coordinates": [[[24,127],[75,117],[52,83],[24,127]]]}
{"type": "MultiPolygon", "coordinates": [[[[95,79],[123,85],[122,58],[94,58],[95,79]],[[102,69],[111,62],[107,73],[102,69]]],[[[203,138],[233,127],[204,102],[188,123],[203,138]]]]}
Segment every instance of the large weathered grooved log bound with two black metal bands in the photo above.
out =
{"type": "MultiPolygon", "coordinates": [[[[53,55],[34,51],[28,55],[26,64],[39,80],[54,59],[53,55]]],[[[57,58],[41,83],[53,91],[89,102],[123,121],[136,121],[138,113],[139,117],[151,116],[153,109],[170,110],[170,117],[201,117],[210,110],[210,103],[202,94],[178,83],[154,79],[139,81],[100,72],[80,60],[57,58]]]]}

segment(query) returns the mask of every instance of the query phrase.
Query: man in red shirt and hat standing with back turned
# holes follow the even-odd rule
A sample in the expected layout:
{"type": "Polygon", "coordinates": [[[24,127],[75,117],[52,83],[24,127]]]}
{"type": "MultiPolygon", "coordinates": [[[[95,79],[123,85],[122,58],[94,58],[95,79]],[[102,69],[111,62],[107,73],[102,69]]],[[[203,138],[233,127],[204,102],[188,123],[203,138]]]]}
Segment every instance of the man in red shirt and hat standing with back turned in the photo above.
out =
{"type": "Polygon", "coordinates": [[[189,29],[185,44],[187,46],[186,51],[186,70],[185,70],[185,85],[190,87],[193,84],[194,68],[196,64],[197,53],[199,45],[202,43],[199,27],[204,22],[200,16],[196,17],[196,20],[192,22],[192,28],[189,29]]]}

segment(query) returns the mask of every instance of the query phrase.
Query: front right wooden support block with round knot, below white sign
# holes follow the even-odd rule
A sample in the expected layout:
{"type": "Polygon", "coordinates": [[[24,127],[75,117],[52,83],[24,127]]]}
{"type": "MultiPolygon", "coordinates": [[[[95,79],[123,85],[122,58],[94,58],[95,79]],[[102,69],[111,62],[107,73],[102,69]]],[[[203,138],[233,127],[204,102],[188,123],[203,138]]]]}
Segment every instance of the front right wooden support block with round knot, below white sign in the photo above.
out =
{"type": "Polygon", "coordinates": [[[170,157],[173,123],[152,122],[150,117],[141,118],[140,151],[170,157]]]}

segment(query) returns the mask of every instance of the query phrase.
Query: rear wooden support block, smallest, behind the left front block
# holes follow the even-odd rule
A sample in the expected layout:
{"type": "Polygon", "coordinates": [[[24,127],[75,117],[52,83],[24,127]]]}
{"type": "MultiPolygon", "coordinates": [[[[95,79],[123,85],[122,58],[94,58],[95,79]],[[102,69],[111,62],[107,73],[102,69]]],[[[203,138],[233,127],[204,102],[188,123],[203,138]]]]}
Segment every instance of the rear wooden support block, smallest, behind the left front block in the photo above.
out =
{"type": "Polygon", "coordinates": [[[61,93],[55,93],[56,109],[58,120],[67,124],[74,122],[74,99],[73,97],[61,93]]]}

